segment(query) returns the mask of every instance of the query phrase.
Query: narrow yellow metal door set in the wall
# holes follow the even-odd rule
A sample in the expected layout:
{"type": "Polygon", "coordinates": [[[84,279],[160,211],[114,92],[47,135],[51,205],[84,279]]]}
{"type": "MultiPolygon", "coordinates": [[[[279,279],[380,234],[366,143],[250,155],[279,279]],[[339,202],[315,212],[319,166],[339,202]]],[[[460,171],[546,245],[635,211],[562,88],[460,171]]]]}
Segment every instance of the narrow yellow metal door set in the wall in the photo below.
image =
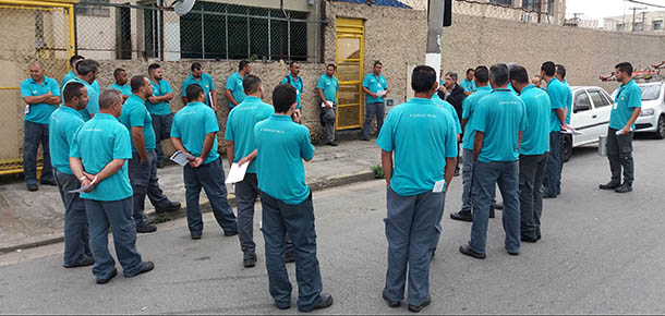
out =
{"type": "Polygon", "coordinates": [[[363,20],[337,17],[337,78],[339,81],[337,130],[359,129],[363,124],[362,80],[364,64],[363,20]]]}

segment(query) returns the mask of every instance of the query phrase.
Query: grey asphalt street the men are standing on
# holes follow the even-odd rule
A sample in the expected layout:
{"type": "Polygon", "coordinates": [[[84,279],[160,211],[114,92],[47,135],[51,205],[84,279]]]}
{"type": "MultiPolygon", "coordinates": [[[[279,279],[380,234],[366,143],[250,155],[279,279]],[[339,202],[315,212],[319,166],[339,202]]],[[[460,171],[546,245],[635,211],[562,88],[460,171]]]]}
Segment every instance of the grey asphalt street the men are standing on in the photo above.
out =
{"type": "MultiPolygon", "coordinates": [[[[663,314],[665,313],[665,142],[638,139],[634,192],[597,190],[609,179],[597,148],[573,150],[563,194],[546,199],[543,239],[521,254],[504,250],[500,211],[491,219],[487,258],[458,252],[470,223],[450,220],[460,207],[461,179],[446,198],[444,232],[432,263],[428,314],[663,314]]],[[[324,291],[335,304],[313,314],[406,314],[380,297],[386,269],[385,182],[314,194],[324,291]]],[[[255,220],[258,263],[242,267],[238,238],[225,238],[206,214],[204,236],[189,238],[183,219],[141,235],[138,250],[154,271],[106,285],[89,268],[62,268],[62,244],[0,256],[0,313],[291,314],[267,289],[263,238],[255,220]]],[[[118,268],[120,269],[119,265],[118,268]]],[[[294,283],[294,266],[289,265],[294,283]]]]}

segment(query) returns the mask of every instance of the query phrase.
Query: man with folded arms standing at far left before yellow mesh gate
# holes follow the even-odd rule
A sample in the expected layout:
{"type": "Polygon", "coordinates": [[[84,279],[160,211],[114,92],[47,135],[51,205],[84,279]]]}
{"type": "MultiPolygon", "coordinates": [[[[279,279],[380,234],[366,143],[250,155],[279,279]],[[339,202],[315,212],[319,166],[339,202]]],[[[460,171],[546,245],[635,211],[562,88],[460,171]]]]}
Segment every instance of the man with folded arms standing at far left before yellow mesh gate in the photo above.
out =
{"type": "Polygon", "coordinates": [[[56,185],[49,154],[49,120],[60,104],[60,87],[44,75],[44,64],[33,61],[31,77],[21,82],[21,98],[25,101],[23,119],[23,177],[28,191],[37,191],[37,149],[44,149],[41,184],[56,185]]]}

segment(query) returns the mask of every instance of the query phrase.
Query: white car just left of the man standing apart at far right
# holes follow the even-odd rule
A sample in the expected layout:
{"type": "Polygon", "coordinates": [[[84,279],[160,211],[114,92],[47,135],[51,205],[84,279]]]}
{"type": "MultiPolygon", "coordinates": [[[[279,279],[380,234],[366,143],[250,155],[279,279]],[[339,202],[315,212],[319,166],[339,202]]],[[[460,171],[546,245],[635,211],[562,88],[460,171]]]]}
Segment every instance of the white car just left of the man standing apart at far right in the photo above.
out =
{"type": "Polygon", "coordinates": [[[566,134],[564,137],[564,161],[570,159],[573,147],[597,143],[601,135],[607,135],[613,104],[609,94],[601,87],[573,86],[571,90],[569,125],[581,134],[566,134]]]}

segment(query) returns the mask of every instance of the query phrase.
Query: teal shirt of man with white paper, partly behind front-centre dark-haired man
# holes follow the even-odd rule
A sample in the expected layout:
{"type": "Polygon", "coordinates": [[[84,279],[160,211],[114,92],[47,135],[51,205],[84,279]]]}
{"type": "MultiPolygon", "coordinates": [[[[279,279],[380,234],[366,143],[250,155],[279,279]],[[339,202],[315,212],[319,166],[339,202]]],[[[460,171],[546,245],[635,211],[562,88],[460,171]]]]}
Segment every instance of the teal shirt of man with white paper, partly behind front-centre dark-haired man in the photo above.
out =
{"type": "MultiPolygon", "coordinates": [[[[256,123],[268,119],[273,113],[275,113],[273,106],[264,104],[257,97],[246,97],[231,110],[227,120],[225,138],[234,143],[233,162],[240,161],[256,149],[254,126],[256,123]]],[[[247,172],[256,173],[255,161],[250,163],[247,172]]]]}

